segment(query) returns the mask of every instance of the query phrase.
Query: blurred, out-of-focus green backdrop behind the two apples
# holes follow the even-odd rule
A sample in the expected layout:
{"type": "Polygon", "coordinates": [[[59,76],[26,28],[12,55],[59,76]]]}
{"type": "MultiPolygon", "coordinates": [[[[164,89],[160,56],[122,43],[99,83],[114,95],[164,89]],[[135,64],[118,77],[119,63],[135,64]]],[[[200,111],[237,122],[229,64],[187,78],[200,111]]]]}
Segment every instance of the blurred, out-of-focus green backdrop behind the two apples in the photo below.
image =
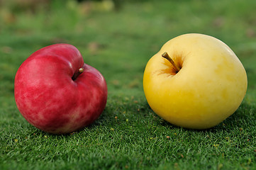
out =
{"type": "Polygon", "coordinates": [[[255,79],[254,1],[2,0],[0,4],[0,81],[5,89],[1,96],[12,95],[13,77],[23,60],[59,42],[76,46],[84,62],[98,67],[110,93],[130,89],[141,94],[145,64],[167,40],[184,33],[204,33],[226,42],[248,77],[255,79]]]}

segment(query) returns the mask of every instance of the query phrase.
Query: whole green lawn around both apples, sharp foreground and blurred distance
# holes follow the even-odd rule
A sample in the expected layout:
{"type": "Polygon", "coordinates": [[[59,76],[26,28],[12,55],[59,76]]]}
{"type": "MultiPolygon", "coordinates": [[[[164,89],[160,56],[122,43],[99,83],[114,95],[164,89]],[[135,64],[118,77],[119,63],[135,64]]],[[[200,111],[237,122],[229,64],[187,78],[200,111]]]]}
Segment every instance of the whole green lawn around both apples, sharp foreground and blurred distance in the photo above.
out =
{"type": "Polygon", "coordinates": [[[93,3],[83,12],[74,1],[54,1],[35,13],[0,6],[0,169],[256,169],[256,1],[102,6],[93,3]],[[240,108],[209,130],[170,125],[152,112],[143,93],[145,64],[167,40],[184,33],[223,40],[247,71],[240,108]],[[76,46],[108,84],[101,117],[69,135],[34,128],[13,96],[20,64],[57,42],[76,46]]]}

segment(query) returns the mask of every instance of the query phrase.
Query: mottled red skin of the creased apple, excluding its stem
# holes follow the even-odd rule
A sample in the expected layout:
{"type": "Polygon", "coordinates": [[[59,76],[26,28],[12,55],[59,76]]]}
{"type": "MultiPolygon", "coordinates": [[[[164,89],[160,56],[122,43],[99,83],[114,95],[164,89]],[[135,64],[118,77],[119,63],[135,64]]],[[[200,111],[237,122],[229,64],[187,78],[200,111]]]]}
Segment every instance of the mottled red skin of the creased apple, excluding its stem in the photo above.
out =
{"type": "Polygon", "coordinates": [[[104,77],[84,64],[73,45],[55,44],[34,52],[18,68],[14,96],[21,115],[45,132],[65,134],[99,118],[107,100],[104,77]],[[72,79],[83,68],[84,72],[72,79]]]}

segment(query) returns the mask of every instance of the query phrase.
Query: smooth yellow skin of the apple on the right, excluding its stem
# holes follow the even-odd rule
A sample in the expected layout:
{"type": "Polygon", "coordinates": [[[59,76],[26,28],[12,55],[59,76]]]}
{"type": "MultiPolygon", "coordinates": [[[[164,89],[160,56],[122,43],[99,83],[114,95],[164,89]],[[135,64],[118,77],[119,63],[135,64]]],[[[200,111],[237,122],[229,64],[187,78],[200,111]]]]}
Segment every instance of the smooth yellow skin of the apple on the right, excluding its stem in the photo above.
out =
{"type": "Polygon", "coordinates": [[[173,125],[207,129],[232,115],[243,101],[247,75],[235,53],[209,35],[179,35],[145,67],[143,89],[152,111],[173,125]],[[162,54],[180,68],[175,72],[162,54]]]}

